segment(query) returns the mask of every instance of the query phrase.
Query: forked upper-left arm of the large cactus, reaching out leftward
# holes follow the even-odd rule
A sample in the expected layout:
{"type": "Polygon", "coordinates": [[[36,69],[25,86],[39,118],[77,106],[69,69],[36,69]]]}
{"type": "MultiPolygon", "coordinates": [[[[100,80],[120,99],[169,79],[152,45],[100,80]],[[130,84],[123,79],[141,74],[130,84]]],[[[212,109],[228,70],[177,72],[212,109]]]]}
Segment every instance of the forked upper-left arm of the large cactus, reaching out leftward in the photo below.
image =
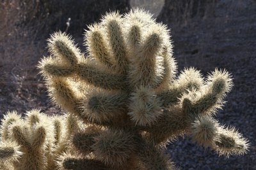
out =
{"type": "Polygon", "coordinates": [[[82,80],[102,87],[104,89],[125,89],[125,78],[120,74],[111,73],[101,67],[95,67],[90,59],[84,59],[83,55],[77,52],[70,38],[65,34],[56,33],[49,40],[50,52],[53,56],[44,58],[38,67],[45,78],[51,76],[74,76],[77,74],[82,80]],[[60,41],[67,43],[60,43],[60,41]],[[56,45],[57,44],[57,45],[56,45]],[[66,49],[63,51],[63,49],[66,49]],[[69,51],[69,52],[66,52],[69,51]],[[72,55],[76,54],[76,55],[72,55]],[[74,60],[73,58],[76,58],[74,60]]]}

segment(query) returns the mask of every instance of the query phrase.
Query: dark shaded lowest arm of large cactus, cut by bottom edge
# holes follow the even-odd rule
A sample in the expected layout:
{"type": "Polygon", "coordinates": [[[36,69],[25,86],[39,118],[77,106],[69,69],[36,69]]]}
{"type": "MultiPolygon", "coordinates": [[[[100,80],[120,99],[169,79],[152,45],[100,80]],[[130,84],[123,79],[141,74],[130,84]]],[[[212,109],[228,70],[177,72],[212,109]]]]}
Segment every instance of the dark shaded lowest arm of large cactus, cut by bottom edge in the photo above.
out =
{"type": "Polygon", "coordinates": [[[82,155],[71,154],[70,151],[61,154],[58,157],[57,161],[58,169],[66,170],[80,170],[80,169],[99,169],[99,170],[110,170],[108,166],[100,162],[99,160],[95,160],[93,155],[87,155],[83,157],[82,155]]]}

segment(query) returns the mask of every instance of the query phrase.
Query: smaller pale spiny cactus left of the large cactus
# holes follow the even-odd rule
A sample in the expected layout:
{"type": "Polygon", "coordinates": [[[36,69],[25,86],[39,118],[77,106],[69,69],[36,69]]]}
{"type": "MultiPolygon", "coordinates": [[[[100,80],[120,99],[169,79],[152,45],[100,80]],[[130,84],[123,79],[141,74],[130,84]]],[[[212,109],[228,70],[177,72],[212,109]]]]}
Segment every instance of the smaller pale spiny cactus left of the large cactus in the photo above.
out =
{"type": "Polygon", "coordinates": [[[56,160],[64,153],[74,128],[74,118],[47,117],[31,110],[21,118],[16,111],[8,112],[1,125],[1,169],[56,169],[56,160]],[[72,127],[66,125],[72,124],[72,127]]]}

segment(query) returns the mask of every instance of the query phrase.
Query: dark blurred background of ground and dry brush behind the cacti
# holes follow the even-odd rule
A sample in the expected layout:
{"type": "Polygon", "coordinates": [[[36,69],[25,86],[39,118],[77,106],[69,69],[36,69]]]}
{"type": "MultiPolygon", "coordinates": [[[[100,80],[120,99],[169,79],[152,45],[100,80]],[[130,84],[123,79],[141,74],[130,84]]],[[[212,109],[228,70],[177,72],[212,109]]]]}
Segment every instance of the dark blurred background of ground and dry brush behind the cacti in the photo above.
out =
{"type": "Polygon", "coordinates": [[[46,39],[66,31],[84,50],[84,29],[107,11],[145,8],[171,29],[179,71],[196,67],[207,75],[226,68],[234,78],[227,104],[216,117],[250,140],[250,151],[229,159],[193,144],[189,137],[168,145],[181,169],[256,169],[256,1],[255,0],[1,0],[0,118],[40,108],[61,113],[51,103],[36,65],[47,55],[46,39]]]}

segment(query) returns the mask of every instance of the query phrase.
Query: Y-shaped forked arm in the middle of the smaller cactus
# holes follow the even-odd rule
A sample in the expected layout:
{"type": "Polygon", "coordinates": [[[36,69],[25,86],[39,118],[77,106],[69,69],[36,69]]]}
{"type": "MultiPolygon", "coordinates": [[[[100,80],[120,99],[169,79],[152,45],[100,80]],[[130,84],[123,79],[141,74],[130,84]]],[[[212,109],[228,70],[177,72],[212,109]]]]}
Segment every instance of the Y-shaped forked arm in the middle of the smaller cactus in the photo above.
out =
{"type": "MultiPolygon", "coordinates": [[[[38,111],[39,113],[39,111],[38,111]]],[[[13,127],[13,136],[16,138],[20,138],[19,140],[21,146],[21,151],[24,152],[24,155],[19,159],[19,164],[15,166],[19,166],[20,169],[38,169],[43,170],[47,166],[52,166],[52,145],[54,143],[54,139],[52,136],[52,125],[51,120],[44,117],[43,114],[40,117],[40,122],[33,125],[33,127],[26,127],[29,125],[29,122],[24,122],[23,125],[16,125],[20,127],[20,135],[17,133],[19,131],[14,131],[15,127],[13,127]],[[23,138],[23,139],[21,139],[23,138]]],[[[19,140],[16,139],[18,142],[19,140]]]]}

